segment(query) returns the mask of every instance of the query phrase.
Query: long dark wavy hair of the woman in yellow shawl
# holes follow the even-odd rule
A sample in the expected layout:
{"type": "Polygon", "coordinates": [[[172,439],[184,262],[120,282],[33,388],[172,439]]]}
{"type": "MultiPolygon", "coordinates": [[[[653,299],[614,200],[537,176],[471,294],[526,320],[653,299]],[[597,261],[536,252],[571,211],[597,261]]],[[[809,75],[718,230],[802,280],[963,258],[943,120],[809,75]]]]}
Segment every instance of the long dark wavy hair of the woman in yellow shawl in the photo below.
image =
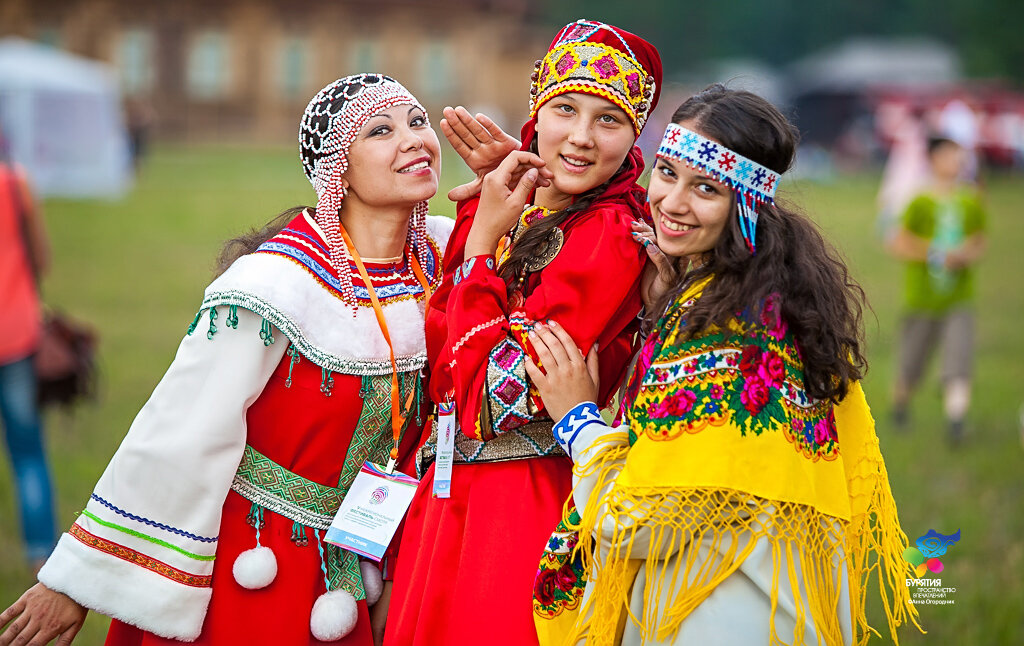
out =
{"type": "MultiPolygon", "coordinates": [[[[777,173],[793,164],[799,133],[771,103],[720,84],[690,97],[672,117],[777,173]]],[[[732,216],[702,266],[680,273],[677,290],[650,313],[656,319],[679,291],[714,276],[686,313],[683,337],[724,328],[740,312],[760,316],[769,297],[773,315],[793,332],[804,362],[809,395],[839,401],[867,370],[863,355],[864,291],[817,225],[790,205],[758,209],[757,253],[743,242],[732,216]]]]}

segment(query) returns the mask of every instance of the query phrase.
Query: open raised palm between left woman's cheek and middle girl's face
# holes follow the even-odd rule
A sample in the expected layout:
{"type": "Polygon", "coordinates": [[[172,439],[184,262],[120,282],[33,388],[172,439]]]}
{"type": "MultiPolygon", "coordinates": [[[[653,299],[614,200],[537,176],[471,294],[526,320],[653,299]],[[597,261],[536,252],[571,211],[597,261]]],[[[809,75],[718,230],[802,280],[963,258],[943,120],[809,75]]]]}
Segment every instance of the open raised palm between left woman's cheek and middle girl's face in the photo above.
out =
{"type": "MultiPolygon", "coordinates": [[[[519,141],[509,136],[486,115],[477,113],[476,117],[473,117],[462,105],[445,107],[443,114],[444,118],[440,123],[441,132],[459,157],[469,166],[469,170],[476,175],[473,181],[450,190],[449,200],[453,202],[468,200],[480,191],[483,177],[487,173],[497,169],[510,153],[519,149],[519,141]]],[[[543,169],[541,177],[544,181],[540,185],[546,186],[551,172],[543,169]]]]}

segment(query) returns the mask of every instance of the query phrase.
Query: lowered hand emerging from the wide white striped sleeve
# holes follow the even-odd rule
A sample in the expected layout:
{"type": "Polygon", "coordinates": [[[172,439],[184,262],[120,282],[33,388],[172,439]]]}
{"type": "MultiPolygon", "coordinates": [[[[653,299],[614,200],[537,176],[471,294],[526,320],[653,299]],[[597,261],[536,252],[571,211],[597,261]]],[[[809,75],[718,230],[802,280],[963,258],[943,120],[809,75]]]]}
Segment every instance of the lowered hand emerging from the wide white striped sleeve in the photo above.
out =
{"type": "Polygon", "coordinates": [[[0,646],[42,646],[57,640],[71,644],[85,622],[87,610],[68,595],[42,584],[30,588],[0,614],[0,646]]]}

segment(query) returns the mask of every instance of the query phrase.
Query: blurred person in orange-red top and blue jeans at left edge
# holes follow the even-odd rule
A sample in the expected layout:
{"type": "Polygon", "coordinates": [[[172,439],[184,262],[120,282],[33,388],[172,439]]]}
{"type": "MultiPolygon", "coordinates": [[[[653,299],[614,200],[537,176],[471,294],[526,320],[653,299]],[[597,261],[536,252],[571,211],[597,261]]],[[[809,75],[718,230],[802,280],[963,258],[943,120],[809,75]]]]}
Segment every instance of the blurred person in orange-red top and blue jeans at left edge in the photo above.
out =
{"type": "Polygon", "coordinates": [[[42,333],[39,281],[48,266],[42,212],[0,131],[0,420],[34,570],[49,556],[56,534],[33,363],[42,333]]]}

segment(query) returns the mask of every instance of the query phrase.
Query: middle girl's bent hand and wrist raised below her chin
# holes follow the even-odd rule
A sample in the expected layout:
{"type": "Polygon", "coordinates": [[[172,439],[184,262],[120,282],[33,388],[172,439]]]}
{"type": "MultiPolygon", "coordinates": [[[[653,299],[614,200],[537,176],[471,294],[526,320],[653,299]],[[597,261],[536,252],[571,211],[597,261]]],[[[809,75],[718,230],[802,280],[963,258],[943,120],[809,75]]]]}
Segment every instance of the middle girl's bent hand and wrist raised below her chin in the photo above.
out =
{"type": "Polygon", "coordinates": [[[542,185],[539,169],[543,165],[544,160],[532,153],[515,150],[484,176],[480,204],[466,240],[467,258],[495,253],[498,241],[519,221],[529,193],[542,185]]]}

